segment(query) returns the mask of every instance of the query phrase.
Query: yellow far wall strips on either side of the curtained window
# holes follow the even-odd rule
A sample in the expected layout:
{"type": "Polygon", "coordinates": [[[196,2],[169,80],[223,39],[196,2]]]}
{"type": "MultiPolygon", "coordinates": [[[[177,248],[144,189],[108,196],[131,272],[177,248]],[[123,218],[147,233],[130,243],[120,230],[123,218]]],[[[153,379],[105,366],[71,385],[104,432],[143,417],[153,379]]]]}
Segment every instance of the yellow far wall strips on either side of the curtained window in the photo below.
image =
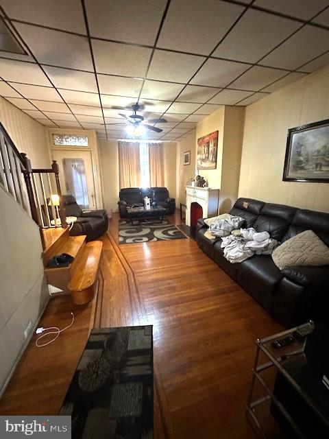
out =
{"type": "MultiPolygon", "coordinates": [[[[99,139],[99,161],[103,187],[104,209],[118,211],[119,200],[119,151],[117,141],[99,139]]],[[[176,145],[163,143],[164,186],[172,198],[176,196],[176,145]]]]}

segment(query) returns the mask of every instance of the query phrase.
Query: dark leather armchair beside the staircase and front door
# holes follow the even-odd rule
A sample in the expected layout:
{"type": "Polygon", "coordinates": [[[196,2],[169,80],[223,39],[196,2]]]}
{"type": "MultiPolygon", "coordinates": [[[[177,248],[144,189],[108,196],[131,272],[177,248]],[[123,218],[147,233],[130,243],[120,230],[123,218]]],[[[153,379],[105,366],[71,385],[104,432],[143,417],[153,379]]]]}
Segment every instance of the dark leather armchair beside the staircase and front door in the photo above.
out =
{"type": "Polygon", "coordinates": [[[103,209],[82,211],[73,195],[63,195],[66,217],[77,217],[70,230],[71,236],[86,235],[87,241],[97,239],[108,230],[108,215],[103,209]]]}

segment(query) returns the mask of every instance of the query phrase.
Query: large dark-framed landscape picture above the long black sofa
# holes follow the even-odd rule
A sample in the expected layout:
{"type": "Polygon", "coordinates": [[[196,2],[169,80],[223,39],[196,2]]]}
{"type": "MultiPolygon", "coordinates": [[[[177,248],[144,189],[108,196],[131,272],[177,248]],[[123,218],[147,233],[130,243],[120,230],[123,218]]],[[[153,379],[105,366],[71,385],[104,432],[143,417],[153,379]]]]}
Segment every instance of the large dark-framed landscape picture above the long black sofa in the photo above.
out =
{"type": "Polygon", "coordinates": [[[288,130],[283,180],[329,182],[329,119],[288,130]]]}

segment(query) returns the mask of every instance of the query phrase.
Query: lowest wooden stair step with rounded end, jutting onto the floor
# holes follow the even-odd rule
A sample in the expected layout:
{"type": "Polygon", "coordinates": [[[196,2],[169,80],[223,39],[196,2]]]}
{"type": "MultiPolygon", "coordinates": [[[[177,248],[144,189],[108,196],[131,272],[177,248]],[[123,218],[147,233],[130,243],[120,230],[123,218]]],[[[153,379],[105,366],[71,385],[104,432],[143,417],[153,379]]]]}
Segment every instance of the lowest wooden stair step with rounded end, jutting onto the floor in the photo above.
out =
{"type": "Polygon", "coordinates": [[[74,264],[68,288],[72,294],[73,302],[77,305],[84,305],[93,299],[102,247],[101,241],[88,242],[74,264]]]}

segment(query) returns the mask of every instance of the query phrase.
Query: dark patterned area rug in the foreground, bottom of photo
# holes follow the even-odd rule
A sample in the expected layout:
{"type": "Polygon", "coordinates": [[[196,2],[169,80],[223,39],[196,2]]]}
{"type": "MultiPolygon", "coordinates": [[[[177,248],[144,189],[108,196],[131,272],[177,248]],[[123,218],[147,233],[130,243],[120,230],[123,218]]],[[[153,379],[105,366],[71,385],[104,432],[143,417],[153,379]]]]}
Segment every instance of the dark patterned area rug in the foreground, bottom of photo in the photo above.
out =
{"type": "Polygon", "coordinates": [[[65,396],[73,439],[153,438],[152,327],[93,329],[65,396]]]}

